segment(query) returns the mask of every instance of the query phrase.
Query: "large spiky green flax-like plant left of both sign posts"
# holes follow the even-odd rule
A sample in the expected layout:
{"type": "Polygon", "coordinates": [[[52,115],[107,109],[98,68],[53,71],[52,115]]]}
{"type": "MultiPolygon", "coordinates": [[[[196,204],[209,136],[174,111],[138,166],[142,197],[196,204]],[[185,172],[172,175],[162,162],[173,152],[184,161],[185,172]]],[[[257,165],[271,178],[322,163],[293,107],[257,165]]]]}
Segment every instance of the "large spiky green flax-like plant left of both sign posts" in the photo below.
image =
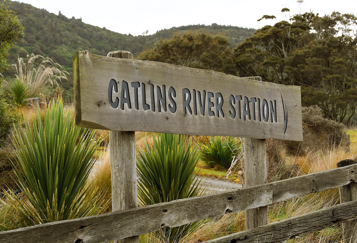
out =
{"type": "MultiPolygon", "coordinates": [[[[33,124],[35,119],[33,116],[33,124]]],[[[40,111],[37,119],[41,120],[40,111]]],[[[44,122],[37,127],[25,123],[24,129],[15,129],[13,142],[20,163],[20,169],[14,168],[21,193],[5,193],[16,213],[10,216],[12,225],[2,228],[86,217],[105,210],[101,208],[102,191],[86,188],[100,141],[94,130],[81,133],[70,115],[64,116],[61,99],[45,109],[44,122]]]]}

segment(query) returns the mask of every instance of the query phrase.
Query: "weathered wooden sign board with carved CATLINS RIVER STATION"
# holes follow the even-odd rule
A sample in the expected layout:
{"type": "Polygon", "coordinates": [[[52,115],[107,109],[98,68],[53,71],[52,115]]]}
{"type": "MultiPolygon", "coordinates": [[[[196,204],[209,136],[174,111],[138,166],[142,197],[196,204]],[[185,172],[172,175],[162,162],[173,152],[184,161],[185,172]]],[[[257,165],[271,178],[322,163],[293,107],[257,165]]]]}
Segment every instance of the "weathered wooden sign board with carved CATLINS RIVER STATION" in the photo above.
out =
{"type": "Polygon", "coordinates": [[[299,86],[88,51],[73,69],[81,127],[302,141],[299,86]]]}

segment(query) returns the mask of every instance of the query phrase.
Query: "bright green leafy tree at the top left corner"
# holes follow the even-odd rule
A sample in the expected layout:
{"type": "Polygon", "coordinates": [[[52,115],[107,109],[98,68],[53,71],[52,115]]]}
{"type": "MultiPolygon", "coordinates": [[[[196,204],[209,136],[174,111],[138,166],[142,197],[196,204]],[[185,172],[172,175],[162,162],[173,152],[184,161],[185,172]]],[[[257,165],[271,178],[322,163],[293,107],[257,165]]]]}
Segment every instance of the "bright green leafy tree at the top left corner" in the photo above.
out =
{"type": "Polygon", "coordinates": [[[24,36],[24,27],[16,15],[5,5],[5,1],[0,5],[0,73],[9,66],[6,64],[9,49],[24,36]]]}

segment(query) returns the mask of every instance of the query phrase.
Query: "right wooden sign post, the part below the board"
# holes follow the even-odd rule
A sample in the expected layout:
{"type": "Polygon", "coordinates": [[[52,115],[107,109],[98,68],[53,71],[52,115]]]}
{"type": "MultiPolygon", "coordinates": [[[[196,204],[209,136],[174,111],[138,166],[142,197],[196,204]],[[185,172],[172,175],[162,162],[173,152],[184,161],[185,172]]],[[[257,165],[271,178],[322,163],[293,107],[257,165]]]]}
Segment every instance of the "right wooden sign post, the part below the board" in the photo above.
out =
{"type": "MultiPolygon", "coordinates": [[[[244,176],[245,186],[252,187],[267,183],[267,163],[265,139],[244,138],[244,176]]],[[[248,209],[246,229],[268,223],[268,206],[248,209]]]]}

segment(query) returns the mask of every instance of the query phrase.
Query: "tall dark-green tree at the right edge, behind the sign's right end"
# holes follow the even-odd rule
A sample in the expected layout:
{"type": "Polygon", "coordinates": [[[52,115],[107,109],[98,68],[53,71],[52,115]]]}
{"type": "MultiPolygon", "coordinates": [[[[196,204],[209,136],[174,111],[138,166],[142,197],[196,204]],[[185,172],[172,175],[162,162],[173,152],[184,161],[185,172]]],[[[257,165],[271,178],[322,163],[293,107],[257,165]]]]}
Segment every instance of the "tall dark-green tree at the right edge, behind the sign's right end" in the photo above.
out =
{"type": "Polygon", "coordinates": [[[287,79],[305,86],[303,105],[318,105],[325,118],[351,124],[357,106],[357,39],[350,27],[356,30],[356,17],[316,16],[311,26],[314,39],[291,53],[287,79]],[[312,103],[311,97],[316,98],[312,103]]]}

